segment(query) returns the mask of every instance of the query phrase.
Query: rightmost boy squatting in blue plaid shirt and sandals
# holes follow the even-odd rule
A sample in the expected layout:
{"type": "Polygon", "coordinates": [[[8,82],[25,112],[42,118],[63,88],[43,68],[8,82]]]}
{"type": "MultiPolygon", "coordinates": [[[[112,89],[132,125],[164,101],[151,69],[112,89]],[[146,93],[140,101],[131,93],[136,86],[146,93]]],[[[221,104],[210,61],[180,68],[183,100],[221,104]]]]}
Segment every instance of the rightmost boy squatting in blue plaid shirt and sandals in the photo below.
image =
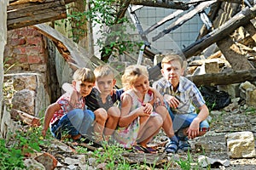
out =
{"type": "Polygon", "coordinates": [[[204,135],[209,130],[207,105],[195,84],[183,77],[183,63],[179,55],[166,54],[161,62],[163,77],[153,84],[153,88],[164,96],[177,137],[166,144],[167,153],[189,150],[188,139],[204,135]],[[195,107],[199,109],[198,114],[195,107]]]}

